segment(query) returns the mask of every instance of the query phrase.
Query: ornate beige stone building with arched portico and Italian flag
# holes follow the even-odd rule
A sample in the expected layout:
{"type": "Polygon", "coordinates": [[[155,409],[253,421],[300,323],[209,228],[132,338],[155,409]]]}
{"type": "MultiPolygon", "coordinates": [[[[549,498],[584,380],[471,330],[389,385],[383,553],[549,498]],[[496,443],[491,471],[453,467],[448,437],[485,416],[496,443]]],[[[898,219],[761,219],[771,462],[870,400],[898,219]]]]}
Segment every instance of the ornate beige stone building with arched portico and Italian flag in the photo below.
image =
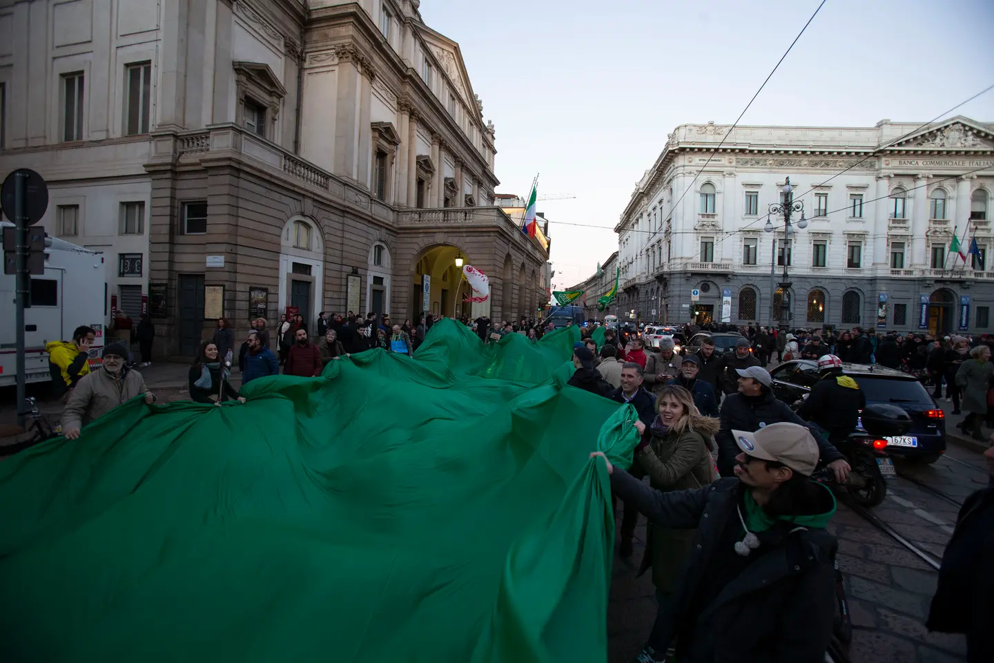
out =
{"type": "Polygon", "coordinates": [[[523,315],[548,252],[493,206],[493,124],[419,4],[0,0],[0,171],[47,179],[42,223],[107,255],[108,322],[148,310],[156,354],[220,315],[523,315]]]}

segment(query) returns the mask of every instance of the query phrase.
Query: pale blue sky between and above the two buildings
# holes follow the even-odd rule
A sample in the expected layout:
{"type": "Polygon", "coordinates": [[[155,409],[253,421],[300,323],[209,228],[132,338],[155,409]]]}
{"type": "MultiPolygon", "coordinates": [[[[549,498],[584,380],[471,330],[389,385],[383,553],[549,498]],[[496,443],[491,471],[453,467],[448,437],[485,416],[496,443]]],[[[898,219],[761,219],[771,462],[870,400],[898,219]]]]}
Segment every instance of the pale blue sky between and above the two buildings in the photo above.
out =
{"type": "MultiPolygon", "coordinates": [[[[539,203],[557,287],[617,248],[635,182],[678,124],[731,124],[818,6],[768,0],[421,0],[497,129],[497,191],[539,203]],[[569,222],[605,230],[567,226],[569,222]]],[[[991,0],[828,0],[743,124],[931,119],[994,83],[991,0]]],[[[994,90],[957,109],[994,122],[994,90]]]]}

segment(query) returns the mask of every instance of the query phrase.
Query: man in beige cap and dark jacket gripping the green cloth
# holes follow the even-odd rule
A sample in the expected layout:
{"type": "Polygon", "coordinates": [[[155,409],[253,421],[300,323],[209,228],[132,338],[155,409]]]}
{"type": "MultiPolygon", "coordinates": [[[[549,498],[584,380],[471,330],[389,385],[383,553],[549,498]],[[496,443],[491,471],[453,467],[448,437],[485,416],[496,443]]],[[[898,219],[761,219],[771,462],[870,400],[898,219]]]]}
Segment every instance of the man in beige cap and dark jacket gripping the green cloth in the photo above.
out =
{"type": "Polygon", "coordinates": [[[835,513],[828,488],[810,480],[818,443],[806,426],[770,423],[733,430],[741,453],[735,478],[662,492],[613,467],[611,490],[649,520],[697,528],[692,554],[636,660],[824,660],[832,635],[835,513]]]}

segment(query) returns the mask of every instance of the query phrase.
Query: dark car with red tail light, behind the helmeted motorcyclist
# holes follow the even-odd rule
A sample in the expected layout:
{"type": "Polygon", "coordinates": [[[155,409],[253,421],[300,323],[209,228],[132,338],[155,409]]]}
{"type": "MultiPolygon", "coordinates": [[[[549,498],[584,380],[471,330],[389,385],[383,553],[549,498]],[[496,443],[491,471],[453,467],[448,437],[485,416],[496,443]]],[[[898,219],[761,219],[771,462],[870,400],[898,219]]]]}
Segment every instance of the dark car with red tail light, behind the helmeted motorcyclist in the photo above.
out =
{"type": "MultiPolygon", "coordinates": [[[[867,405],[897,406],[911,416],[908,434],[886,438],[890,455],[933,463],[945,452],[945,413],[914,377],[883,366],[865,364],[843,364],[842,371],[863,390],[867,405]]],[[[821,377],[818,363],[807,359],[784,362],[769,375],[776,398],[787,404],[802,399],[821,377]]]]}

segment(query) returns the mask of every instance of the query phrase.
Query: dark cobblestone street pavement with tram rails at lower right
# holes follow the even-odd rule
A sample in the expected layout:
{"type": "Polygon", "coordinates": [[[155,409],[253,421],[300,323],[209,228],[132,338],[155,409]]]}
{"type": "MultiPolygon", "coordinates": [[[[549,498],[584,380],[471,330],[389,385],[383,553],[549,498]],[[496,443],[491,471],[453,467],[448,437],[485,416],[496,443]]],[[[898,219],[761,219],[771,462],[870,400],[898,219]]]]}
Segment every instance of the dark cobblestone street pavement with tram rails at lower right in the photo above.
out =
{"type": "MultiPolygon", "coordinates": [[[[939,561],[958,512],[949,500],[962,502],[987,484],[983,459],[975,451],[953,446],[933,465],[899,461],[898,472],[903,476],[888,482],[888,497],[871,511],[939,561]]],[[[619,506],[616,520],[620,515],[619,506]]],[[[607,608],[610,663],[626,663],[638,653],[655,616],[650,574],[636,578],[645,542],[644,518],[639,521],[631,562],[614,558],[607,608]]],[[[924,627],[937,578],[931,567],[841,503],[829,530],[839,539],[839,567],[854,625],[849,652],[853,663],[966,660],[963,636],[928,633],[924,627]]]]}

